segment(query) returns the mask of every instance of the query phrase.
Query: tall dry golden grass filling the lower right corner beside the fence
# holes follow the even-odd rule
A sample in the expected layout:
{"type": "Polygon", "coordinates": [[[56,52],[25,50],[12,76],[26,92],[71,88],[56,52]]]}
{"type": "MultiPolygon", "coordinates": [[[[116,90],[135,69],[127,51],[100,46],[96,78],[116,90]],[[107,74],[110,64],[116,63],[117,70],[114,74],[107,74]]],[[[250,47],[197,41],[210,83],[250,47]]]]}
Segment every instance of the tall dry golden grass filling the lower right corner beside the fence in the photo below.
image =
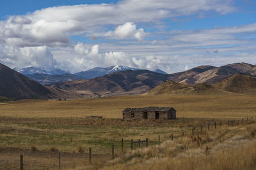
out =
{"type": "Polygon", "coordinates": [[[202,135],[203,143],[189,138],[166,141],[132,150],[109,161],[103,169],[255,169],[255,130],[255,124],[227,128],[228,132],[202,135]]]}

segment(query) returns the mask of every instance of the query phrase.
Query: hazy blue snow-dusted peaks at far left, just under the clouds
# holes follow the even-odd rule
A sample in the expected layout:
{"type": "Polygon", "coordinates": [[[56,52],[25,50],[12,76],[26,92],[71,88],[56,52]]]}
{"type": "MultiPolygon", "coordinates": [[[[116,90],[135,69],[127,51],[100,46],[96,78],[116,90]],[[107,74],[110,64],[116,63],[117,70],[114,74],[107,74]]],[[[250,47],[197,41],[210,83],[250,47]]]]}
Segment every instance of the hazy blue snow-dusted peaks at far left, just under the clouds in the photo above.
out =
{"type": "Polygon", "coordinates": [[[15,71],[21,73],[21,74],[51,74],[51,75],[56,75],[56,74],[66,74],[66,71],[63,71],[61,69],[55,69],[53,71],[48,71],[44,68],[41,67],[26,67],[26,68],[14,68],[15,71]]]}

